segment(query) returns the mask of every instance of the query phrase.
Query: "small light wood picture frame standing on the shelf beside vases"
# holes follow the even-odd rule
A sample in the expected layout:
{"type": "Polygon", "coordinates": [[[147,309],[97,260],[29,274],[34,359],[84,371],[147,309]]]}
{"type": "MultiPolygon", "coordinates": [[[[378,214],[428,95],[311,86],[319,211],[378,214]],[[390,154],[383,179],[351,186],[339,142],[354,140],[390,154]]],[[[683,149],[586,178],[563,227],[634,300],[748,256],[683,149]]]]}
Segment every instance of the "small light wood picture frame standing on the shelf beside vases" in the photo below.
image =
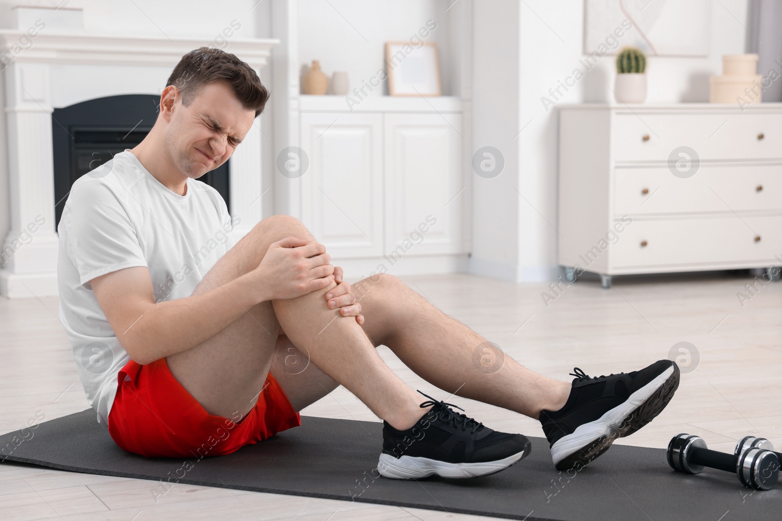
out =
{"type": "Polygon", "coordinates": [[[386,42],[386,76],[389,96],[441,95],[437,44],[386,42]]]}

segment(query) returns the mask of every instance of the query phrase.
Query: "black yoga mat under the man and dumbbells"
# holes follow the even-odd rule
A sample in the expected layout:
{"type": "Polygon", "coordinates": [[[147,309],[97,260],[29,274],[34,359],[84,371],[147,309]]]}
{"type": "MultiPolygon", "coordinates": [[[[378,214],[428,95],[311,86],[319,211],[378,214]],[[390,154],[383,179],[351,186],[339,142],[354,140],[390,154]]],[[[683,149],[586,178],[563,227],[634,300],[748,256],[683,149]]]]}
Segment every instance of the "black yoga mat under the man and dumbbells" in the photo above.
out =
{"type": "MultiPolygon", "coordinates": [[[[302,416],[302,425],[227,456],[146,459],[123,451],[88,409],[0,437],[0,458],[82,473],[364,501],[508,519],[780,519],[782,487],[755,491],[735,475],[675,473],[662,449],[615,445],[559,472],[548,444],[500,473],[469,480],[386,480],[382,424],[302,416]],[[723,518],[724,516],[724,518],[723,518]]],[[[671,433],[673,434],[676,433],[671,433]]],[[[2,496],[0,496],[2,505],[2,496]]]]}

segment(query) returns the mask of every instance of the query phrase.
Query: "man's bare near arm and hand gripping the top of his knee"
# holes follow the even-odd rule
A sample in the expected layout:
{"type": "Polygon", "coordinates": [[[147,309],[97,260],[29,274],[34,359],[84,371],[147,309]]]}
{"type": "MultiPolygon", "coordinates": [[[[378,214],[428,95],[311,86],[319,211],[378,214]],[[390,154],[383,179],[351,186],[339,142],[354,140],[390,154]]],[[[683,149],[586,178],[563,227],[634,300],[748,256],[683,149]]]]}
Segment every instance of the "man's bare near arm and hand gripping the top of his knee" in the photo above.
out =
{"type": "Polygon", "coordinates": [[[207,293],[159,303],[145,266],[106,273],[90,284],[120,344],[143,365],[206,341],[260,302],[327,287],[334,266],[325,251],[323,244],[287,237],[272,243],[253,271],[207,293]]]}

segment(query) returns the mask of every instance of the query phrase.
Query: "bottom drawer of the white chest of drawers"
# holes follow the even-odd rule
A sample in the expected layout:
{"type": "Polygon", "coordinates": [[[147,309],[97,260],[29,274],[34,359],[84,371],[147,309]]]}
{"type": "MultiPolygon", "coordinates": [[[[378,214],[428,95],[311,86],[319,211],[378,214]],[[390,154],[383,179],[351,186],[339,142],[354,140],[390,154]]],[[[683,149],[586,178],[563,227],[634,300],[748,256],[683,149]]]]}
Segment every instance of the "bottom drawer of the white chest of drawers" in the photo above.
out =
{"type": "Polygon", "coordinates": [[[634,219],[610,247],[609,263],[612,269],[764,261],[771,266],[778,263],[774,255],[782,255],[782,216],[634,219]]]}

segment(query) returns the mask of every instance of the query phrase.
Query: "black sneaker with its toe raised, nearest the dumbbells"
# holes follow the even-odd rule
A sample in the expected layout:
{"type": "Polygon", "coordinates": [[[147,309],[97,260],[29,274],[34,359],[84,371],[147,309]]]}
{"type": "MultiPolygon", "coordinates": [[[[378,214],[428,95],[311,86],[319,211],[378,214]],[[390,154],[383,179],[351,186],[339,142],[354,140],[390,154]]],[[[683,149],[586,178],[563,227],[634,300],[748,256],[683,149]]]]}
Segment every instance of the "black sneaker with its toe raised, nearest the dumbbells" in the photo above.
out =
{"type": "Polygon", "coordinates": [[[576,367],[570,396],[558,411],[541,411],[540,423],[557,469],[586,465],[617,437],[651,422],[679,387],[679,366],[659,360],[640,371],[587,376],[576,367]]]}

